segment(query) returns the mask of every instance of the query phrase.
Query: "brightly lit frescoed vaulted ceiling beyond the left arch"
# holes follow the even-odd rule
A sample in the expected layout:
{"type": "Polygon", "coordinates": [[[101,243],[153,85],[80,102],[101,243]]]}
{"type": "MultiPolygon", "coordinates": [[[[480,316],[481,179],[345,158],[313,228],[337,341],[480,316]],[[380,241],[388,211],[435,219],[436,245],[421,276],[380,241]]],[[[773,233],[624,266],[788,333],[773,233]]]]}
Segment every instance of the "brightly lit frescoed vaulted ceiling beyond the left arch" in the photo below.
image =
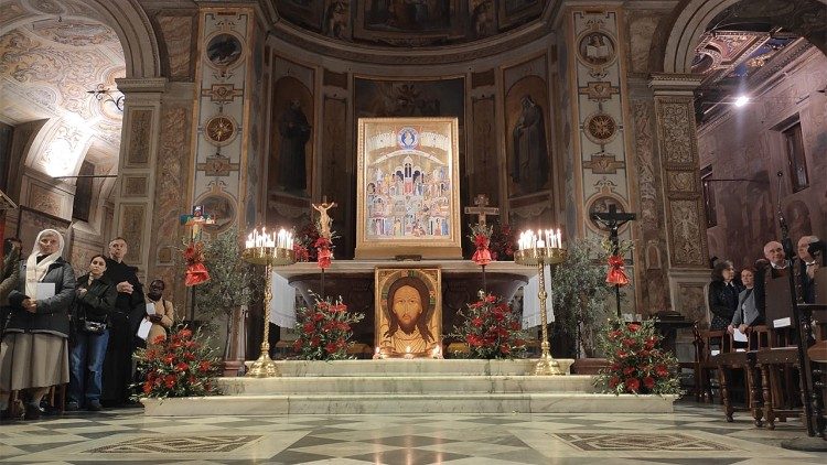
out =
{"type": "Polygon", "coordinates": [[[82,2],[4,1],[0,13],[0,120],[15,126],[62,119],[84,131],[90,156],[114,165],[120,147],[121,111],[87,90],[99,84],[117,94],[126,73],[115,31],[82,2]]]}

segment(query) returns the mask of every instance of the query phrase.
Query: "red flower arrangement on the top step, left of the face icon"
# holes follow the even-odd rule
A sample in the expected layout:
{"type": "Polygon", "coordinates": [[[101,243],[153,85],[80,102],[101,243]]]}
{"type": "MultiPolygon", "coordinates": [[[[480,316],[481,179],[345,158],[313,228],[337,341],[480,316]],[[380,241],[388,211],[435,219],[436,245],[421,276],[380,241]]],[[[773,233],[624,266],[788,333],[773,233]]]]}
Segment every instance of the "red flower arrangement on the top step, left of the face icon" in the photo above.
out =
{"type": "Polygon", "coordinates": [[[347,312],[347,305],[337,300],[315,300],[312,307],[297,311],[296,331],[299,338],[293,352],[304,360],[343,360],[353,337],[351,325],[365,317],[364,313],[347,312]]]}

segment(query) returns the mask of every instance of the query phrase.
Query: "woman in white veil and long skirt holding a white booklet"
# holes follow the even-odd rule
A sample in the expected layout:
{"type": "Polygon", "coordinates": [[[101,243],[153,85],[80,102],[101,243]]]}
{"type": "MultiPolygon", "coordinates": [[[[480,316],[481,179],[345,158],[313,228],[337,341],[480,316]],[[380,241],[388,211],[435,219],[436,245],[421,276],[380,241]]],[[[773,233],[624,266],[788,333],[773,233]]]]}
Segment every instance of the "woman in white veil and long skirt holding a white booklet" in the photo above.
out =
{"type": "Polygon", "coordinates": [[[9,294],[11,320],[0,343],[0,410],[13,390],[25,401],[25,419],[36,420],[40,401],[69,379],[69,310],[75,272],[64,260],[63,236],[44,229],[32,255],[20,263],[18,286],[9,294]]]}

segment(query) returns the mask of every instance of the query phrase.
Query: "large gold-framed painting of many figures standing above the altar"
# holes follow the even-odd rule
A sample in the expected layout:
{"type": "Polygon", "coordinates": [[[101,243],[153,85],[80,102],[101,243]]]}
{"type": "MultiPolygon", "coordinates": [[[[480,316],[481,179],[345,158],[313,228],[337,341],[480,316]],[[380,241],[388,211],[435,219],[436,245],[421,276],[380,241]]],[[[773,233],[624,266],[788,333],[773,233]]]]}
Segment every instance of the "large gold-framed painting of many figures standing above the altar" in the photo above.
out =
{"type": "Polygon", "coordinates": [[[462,258],[457,118],[359,118],[356,258],[462,258]]]}

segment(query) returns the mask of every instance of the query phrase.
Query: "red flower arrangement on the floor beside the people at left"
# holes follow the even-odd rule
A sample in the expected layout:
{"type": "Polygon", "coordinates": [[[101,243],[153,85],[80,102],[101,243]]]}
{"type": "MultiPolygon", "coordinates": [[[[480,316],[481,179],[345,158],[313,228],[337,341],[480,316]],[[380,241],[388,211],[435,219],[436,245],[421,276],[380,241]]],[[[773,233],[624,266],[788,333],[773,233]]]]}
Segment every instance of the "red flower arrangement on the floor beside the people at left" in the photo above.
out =
{"type": "Polygon", "coordinates": [[[221,360],[213,356],[201,333],[181,327],[170,337],[157,336],[149,348],[138,349],[138,371],[143,382],[133,385],[142,397],[194,397],[219,394],[215,377],[221,360]]]}

